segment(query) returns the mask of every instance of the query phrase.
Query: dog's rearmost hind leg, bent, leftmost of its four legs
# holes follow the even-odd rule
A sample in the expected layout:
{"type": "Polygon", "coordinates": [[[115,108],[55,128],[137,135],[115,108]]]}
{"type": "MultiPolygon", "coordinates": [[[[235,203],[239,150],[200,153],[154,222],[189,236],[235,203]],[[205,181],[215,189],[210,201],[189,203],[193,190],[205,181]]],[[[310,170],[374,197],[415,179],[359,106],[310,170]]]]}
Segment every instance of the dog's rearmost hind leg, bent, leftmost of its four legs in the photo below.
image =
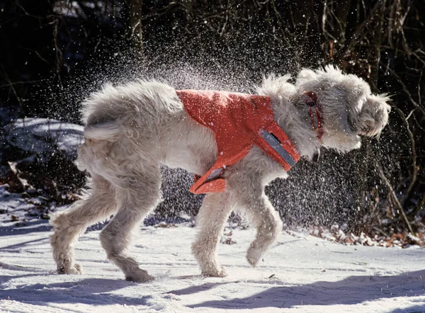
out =
{"type": "Polygon", "coordinates": [[[50,243],[58,273],[81,273],[81,266],[74,260],[75,241],[87,227],[108,218],[116,210],[115,190],[105,178],[94,175],[92,188],[89,198],[77,201],[68,210],[57,212],[50,220],[55,227],[50,243]]]}

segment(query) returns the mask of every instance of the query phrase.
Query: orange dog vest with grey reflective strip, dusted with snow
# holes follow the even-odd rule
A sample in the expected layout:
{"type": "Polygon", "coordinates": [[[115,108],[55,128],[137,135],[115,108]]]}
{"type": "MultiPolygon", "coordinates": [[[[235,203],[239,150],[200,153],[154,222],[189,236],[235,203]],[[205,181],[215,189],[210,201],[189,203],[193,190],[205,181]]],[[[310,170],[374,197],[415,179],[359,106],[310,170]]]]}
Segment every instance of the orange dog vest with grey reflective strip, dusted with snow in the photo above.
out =
{"type": "Polygon", "coordinates": [[[222,178],[227,166],[232,166],[256,144],[286,171],[300,159],[292,142],[273,118],[271,100],[225,91],[176,91],[186,113],[215,134],[217,160],[203,176],[196,176],[191,193],[225,191],[222,178]]]}

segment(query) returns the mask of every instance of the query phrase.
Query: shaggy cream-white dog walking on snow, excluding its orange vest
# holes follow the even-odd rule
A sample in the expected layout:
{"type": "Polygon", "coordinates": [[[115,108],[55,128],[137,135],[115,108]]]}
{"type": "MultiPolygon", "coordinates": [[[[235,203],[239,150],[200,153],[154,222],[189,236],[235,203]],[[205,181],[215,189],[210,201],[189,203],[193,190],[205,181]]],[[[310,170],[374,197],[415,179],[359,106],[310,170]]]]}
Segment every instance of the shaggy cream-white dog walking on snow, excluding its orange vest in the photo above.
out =
{"type": "MultiPolygon", "coordinates": [[[[274,118],[302,157],[311,159],[319,147],[347,152],[361,145],[358,135],[378,136],[387,124],[388,98],[371,94],[357,76],[339,69],[302,69],[295,84],[290,76],[264,79],[258,93],[271,98],[274,118]],[[305,93],[317,95],[322,116],[322,140],[312,127],[305,93]]],[[[211,130],[186,114],[176,91],[155,81],[137,81],[125,86],[105,86],[84,103],[84,137],[77,163],[91,174],[91,193],[64,212],[52,217],[51,243],[58,273],[81,273],[74,261],[74,243],[86,227],[113,219],[101,232],[108,258],[137,282],[152,280],[128,254],[130,232],[159,203],[159,166],[186,169],[203,175],[217,159],[211,130]]],[[[276,240],[282,222],[264,193],[264,187],[288,173],[259,147],[223,177],[224,193],[209,193],[200,207],[200,232],[192,251],[203,275],[223,277],[217,261],[217,244],[232,210],[241,210],[257,229],[246,258],[256,266],[261,255],[276,240]]]]}

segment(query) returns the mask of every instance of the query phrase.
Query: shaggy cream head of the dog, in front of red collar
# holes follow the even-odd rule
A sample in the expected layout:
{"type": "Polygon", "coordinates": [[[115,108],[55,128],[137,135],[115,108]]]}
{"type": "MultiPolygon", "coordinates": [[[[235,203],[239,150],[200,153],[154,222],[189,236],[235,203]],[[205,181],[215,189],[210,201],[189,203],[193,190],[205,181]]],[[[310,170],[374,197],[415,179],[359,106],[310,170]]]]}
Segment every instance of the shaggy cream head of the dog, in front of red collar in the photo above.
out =
{"type": "Polygon", "coordinates": [[[390,100],[373,95],[358,76],[327,66],[324,70],[302,69],[297,76],[298,93],[316,93],[322,114],[325,147],[347,152],[361,146],[359,135],[379,137],[388,122],[390,100]]]}

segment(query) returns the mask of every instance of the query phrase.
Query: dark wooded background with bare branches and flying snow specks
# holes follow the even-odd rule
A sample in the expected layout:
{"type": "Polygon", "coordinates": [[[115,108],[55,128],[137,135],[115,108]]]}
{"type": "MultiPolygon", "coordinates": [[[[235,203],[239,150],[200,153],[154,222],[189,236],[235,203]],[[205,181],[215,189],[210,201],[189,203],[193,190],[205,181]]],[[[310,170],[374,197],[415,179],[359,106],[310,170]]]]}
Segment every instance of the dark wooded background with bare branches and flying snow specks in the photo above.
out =
{"type": "MultiPolygon", "coordinates": [[[[424,21],[423,0],[1,1],[0,106],[8,114],[0,125],[79,123],[81,100],[106,82],[253,92],[264,74],[336,64],[390,94],[390,125],[356,152],[300,162],[266,191],[286,224],[416,232],[425,201],[424,21]]],[[[77,175],[69,171],[62,175],[77,175]]],[[[196,213],[191,176],[164,173],[157,213],[196,213]]]]}

